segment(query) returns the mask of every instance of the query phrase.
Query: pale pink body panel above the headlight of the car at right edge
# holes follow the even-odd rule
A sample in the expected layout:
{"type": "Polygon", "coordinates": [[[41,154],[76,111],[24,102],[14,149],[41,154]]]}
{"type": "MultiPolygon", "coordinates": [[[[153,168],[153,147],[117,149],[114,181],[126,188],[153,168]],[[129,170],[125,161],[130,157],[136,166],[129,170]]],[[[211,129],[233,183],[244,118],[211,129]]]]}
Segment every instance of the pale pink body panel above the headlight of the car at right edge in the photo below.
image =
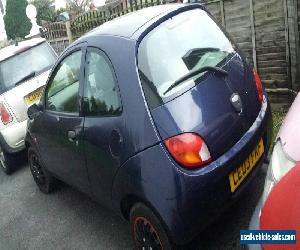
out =
{"type": "Polygon", "coordinates": [[[298,94],[278,133],[284,152],[294,161],[300,161],[300,147],[298,146],[300,140],[299,123],[300,95],[298,94]]]}

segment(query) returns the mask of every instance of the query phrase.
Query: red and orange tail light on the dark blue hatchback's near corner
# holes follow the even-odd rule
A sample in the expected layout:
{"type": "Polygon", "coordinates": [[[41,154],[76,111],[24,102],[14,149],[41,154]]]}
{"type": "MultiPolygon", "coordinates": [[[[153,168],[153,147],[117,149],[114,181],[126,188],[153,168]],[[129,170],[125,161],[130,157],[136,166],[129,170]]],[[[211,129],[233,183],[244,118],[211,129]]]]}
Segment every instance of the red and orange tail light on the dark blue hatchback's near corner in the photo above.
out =
{"type": "Polygon", "coordinates": [[[164,141],[173,158],[190,169],[203,167],[212,161],[210,152],[201,136],[184,133],[164,141]]]}

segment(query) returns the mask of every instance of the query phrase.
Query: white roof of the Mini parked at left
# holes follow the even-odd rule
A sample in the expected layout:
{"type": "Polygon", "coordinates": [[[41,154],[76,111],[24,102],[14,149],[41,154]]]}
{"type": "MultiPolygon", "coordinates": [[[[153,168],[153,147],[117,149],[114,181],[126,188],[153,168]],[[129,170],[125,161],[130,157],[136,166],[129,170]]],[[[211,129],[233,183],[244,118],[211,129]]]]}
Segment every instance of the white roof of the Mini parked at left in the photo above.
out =
{"type": "Polygon", "coordinates": [[[18,43],[16,45],[10,45],[0,50],[0,62],[6,60],[9,57],[17,54],[22,50],[27,50],[28,48],[32,48],[42,42],[46,41],[44,38],[33,38],[30,40],[25,40],[18,43]]]}

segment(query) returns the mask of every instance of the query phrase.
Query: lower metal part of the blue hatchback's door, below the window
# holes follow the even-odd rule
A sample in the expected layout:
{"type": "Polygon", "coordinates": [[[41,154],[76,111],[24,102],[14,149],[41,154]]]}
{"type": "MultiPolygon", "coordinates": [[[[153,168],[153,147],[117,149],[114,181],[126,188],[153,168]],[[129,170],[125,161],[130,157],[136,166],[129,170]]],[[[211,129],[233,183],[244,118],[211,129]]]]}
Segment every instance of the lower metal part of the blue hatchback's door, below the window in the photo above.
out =
{"type": "Polygon", "coordinates": [[[46,113],[41,119],[48,123],[43,128],[43,135],[47,134],[48,138],[47,140],[41,140],[41,137],[37,139],[40,142],[40,153],[48,170],[70,185],[80,187],[82,192],[90,194],[83,150],[83,117],[58,117],[55,114],[46,113]],[[49,122],[50,120],[52,122],[49,122]],[[79,134],[78,141],[69,140],[69,131],[76,131],[79,134]]]}

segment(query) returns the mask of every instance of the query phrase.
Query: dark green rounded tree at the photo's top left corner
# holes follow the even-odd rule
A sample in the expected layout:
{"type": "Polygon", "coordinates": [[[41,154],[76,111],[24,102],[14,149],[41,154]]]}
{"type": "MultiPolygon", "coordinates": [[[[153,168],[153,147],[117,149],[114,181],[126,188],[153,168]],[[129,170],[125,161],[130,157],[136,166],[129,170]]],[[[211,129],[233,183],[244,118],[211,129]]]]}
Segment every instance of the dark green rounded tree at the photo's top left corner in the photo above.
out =
{"type": "Polygon", "coordinates": [[[29,34],[31,22],[26,16],[26,0],[7,0],[4,25],[8,39],[24,38],[29,34]]]}

